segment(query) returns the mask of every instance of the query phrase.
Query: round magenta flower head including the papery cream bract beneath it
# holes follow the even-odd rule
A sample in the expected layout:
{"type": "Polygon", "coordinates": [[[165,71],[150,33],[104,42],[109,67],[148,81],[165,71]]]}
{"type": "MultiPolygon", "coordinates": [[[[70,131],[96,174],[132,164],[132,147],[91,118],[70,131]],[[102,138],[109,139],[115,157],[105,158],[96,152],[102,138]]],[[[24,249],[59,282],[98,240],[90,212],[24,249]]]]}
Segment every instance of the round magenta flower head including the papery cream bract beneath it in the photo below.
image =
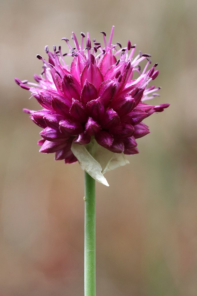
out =
{"type": "Polygon", "coordinates": [[[108,185],[103,176],[107,170],[128,163],[124,155],[138,153],[136,139],[149,133],[142,120],[154,112],[162,112],[169,104],[153,106],[145,101],[158,96],[159,87],[149,86],[159,71],[151,64],[150,54],[141,52],[133,58],[135,45],[112,44],[114,27],[104,46],[89,33],[79,44],[74,32],[72,43],[62,38],[69,53],[62,54],[61,46],[53,52],[45,46],[48,60],[43,61],[36,83],[16,83],[29,90],[42,109],[32,111],[30,118],[43,130],[40,132],[40,152],[55,153],[55,160],[74,163],[77,160],[97,181],[108,185]],[[64,56],[73,57],[66,65],[64,56]],[[147,63],[141,71],[139,63],[147,63]],[[136,73],[137,78],[133,78],[136,73]]]}

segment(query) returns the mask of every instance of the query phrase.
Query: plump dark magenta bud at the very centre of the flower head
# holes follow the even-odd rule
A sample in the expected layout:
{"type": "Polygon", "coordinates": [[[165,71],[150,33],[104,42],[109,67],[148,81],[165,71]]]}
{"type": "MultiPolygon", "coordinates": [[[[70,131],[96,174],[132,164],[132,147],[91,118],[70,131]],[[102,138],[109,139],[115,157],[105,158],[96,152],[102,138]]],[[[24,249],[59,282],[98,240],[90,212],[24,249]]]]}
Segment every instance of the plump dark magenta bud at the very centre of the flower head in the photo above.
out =
{"type": "Polygon", "coordinates": [[[100,98],[88,102],[87,110],[89,117],[93,118],[95,121],[102,119],[105,112],[104,105],[100,98]]]}

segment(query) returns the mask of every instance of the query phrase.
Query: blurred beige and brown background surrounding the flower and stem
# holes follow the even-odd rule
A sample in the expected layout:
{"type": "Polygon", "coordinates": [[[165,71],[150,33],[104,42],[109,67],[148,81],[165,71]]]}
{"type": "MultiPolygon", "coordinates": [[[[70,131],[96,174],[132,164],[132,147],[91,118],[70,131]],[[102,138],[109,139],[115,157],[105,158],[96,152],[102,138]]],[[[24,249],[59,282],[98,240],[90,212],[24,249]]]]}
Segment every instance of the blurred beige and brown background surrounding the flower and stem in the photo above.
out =
{"type": "Polygon", "coordinates": [[[74,31],[152,54],[161,97],[129,165],[97,184],[97,295],[197,295],[196,11],[193,0],[1,0],[0,295],[83,295],[84,173],[38,152],[39,110],[14,77],[74,31]]]}

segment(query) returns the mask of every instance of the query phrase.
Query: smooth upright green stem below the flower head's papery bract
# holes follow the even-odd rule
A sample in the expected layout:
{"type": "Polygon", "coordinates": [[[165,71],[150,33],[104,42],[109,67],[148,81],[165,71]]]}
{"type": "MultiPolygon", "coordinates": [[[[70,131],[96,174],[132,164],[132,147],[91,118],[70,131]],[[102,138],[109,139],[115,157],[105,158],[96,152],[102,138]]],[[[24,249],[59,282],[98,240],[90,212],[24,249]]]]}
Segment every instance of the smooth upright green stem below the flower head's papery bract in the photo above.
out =
{"type": "Polygon", "coordinates": [[[95,180],[85,172],[84,295],[96,296],[95,180]]]}

